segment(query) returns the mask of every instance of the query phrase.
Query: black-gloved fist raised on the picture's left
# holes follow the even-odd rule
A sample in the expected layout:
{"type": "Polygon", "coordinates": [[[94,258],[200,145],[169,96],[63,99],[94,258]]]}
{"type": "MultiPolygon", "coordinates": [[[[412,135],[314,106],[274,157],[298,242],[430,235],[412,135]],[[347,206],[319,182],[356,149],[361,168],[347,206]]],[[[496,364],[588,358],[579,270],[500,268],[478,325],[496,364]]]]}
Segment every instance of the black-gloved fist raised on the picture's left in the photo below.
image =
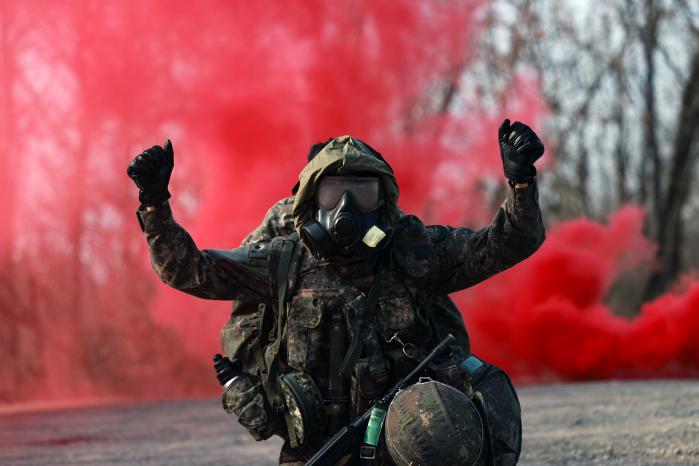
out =
{"type": "Polygon", "coordinates": [[[167,185],[174,166],[175,153],[169,139],[163,147],[153,146],[137,155],[129,164],[126,174],[138,187],[141,209],[145,206],[160,206],[170,199],[167,185]]]}

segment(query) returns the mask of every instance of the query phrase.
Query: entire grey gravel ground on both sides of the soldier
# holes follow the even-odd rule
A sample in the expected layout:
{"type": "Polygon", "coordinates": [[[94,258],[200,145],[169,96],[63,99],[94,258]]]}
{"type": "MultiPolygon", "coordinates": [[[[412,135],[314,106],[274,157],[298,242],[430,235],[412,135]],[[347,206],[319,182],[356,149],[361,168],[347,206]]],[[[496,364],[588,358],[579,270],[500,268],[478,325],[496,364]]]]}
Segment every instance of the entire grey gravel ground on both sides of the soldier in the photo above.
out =
{"type": "MultiPolygon", "coordinates": [[[[523,465],[699,464],[699,381],[519,390],[523,465]]],[[[1,465],[272,465],[218,400],[0,414],[1,465]]]]}

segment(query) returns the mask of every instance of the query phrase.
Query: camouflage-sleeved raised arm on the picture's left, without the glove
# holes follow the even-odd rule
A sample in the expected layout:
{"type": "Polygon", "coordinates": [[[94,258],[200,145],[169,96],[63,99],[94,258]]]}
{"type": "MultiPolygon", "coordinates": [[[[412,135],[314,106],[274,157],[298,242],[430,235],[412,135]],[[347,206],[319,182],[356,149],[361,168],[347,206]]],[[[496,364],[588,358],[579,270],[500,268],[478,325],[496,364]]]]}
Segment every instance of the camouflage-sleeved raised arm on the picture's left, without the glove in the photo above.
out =
{"type": "Polygon", "coordinates": [[[200,251],[169,204],[138,216],[153,270],[167,285],[205,299],[270,300],[266,244],[200,251]]]}

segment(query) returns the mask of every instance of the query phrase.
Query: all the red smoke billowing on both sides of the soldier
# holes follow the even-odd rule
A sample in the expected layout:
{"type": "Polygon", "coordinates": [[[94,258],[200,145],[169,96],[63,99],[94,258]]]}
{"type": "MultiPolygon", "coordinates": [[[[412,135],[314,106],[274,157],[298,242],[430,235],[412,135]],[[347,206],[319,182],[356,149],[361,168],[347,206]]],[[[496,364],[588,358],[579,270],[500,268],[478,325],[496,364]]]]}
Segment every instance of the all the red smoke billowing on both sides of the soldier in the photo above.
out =
{"type": "MultiPolygon", "coordinates": [[[[502,108],[442,111],[469,66],[478,5],[2,3],[0,402],[216,390],[209,361],[229,304],[157,281],[125,175],[167,137],[175,215],[201,247],[236,246],[288,195],[310,144],[340,134],[385,154],[405,210],[486,222],[496,204],[480,187],[502,184],[498,124],[536,126],[545,108],[522,76],[502,108]]],[[[460,295],[475,351],[520,379],[694,371],[696,287],[633,322],[601,304],[652,249],[639,215],[559,225],[532,259],[460,295]]]]}

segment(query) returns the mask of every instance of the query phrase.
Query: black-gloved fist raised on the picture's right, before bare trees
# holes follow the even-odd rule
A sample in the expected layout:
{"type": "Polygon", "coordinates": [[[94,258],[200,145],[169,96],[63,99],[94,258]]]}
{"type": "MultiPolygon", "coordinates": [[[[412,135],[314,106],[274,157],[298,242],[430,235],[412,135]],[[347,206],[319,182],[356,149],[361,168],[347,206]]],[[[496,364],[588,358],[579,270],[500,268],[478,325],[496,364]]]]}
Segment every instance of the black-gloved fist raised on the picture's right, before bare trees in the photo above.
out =
{"type": "Polygon", "coordinates": [[[531,183],[536,176],[534,162],[544,154],[544,144],[529,126],[505,119],[498,129],[500,157],[510,184],[531,183]]]}

